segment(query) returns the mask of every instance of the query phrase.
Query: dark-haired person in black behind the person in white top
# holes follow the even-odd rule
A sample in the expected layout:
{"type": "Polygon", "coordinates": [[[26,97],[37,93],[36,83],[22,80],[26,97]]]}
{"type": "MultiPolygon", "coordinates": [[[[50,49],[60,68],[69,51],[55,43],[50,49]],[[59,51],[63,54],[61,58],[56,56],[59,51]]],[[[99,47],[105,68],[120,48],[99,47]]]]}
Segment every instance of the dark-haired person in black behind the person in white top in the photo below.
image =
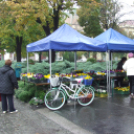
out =
{"type": "MultiPolygon", "coordinates": [[[[125,63],[126,60],[127,60],[126,57],[122,57],[122,59],[117,64],[116,70],[123,70],[122,66],[123,66],[123,64],[125,63]]],[[[124,79],[124,77],[117,78],[117,81],[116,81],[115,85],[118,86],[118,87],[122,87],[123,79],[124,79]]]]}

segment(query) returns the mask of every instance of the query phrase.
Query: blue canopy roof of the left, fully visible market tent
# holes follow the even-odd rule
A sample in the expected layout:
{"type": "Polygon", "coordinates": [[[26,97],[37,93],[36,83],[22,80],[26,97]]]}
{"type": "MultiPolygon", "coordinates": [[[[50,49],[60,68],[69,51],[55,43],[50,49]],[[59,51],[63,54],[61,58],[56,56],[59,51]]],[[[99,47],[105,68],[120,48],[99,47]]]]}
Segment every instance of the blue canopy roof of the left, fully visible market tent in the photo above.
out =
{"type": "Polygon", "coordinates": [[[51,35],[27,45],[27,52],[48,51],[106,51],[104,42],[86,37],[67,24],[63,24],[51,35]]]}

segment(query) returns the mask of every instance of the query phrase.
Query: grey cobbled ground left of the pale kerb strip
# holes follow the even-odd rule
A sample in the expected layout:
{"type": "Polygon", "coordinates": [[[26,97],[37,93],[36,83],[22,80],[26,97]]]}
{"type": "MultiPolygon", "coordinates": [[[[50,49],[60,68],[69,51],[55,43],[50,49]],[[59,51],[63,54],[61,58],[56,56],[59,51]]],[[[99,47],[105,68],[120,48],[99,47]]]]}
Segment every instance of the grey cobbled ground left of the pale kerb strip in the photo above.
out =
{"type": "Polygon", "coordinates": [[[3,114],[0,103],[0,134],[72,134],[17,99],[18,113],[3,114]]]}

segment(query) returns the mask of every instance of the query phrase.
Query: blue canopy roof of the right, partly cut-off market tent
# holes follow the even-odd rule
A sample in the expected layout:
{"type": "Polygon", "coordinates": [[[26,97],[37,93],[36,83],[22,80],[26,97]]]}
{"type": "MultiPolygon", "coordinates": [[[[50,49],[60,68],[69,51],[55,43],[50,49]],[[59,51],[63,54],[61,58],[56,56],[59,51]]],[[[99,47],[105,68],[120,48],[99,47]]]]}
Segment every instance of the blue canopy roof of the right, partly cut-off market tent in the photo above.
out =
{"type": "Polygon", "coordinates": [[[110,28],[95,39],[107,43],[111,51],[134,51],[134,41],[110,28]]]}

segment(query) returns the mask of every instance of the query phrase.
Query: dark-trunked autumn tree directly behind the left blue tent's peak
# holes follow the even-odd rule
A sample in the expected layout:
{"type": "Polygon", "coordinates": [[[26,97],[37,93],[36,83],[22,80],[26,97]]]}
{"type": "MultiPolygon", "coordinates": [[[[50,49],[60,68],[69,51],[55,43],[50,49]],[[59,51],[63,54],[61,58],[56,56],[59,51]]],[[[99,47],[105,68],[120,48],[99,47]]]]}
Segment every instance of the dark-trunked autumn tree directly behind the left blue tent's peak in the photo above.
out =
{"type": "MultiPolygon", "coordinates": [[[[47,4],[50,8],[48,16],[46,16],[47,21],[43,24],[41,18],[37,18],[37,22],[42,24],[42,27],[44,31],[46,32],[46,35],[50,35],[51,32],[55,31],[59,25],[61,24],[60,19],[62,19],[65,16],[64,11],[68,10],[70,13],[72,13],[73,5],[77,3],[77,5],[83,5],[84,3],[87,3],[87,5],[90,5],[91,3],[94,3],[94,0],[47,0],[47,4]]],[[[64,17],[65,18],[65,17],[64,17]]],[[[55,60],[55,52],[52,52],[52,62],[55,60]]]]}

